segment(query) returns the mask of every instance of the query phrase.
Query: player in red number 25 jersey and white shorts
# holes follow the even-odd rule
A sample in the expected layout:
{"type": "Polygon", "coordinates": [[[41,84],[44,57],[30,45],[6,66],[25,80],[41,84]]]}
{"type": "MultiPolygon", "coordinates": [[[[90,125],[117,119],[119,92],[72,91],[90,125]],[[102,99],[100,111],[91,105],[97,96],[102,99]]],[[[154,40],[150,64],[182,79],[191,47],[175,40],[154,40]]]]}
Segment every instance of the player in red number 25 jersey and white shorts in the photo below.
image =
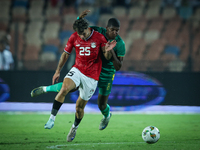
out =
{"type": "Polygon", "coordinates": [[[89,24],[85,19],[76,20],[73,24],[73,29],[76,32],[70,36],[64,48],[64,52],[61,55],[58,67],[52,78],[52,83],[54,84],[55,81],[58,81],[61,69],[73,48],[76,51],[75,64],[65,76],[62,88],[55,97],[51,116],[44,126],[45,129],[51,129],[54,126],[55,117],[65,100],[65,96],[69,91],[78,87],[79,97],[76,101],[75,121],[67,136],[68,142],[71,142],[75,138],[76,130],[84,115],[85,105],[97,87],[102,68],[101,54],[109,60],[112,57],[110,51],[116,46],[115,40],[107,42],[102,34],[89,28],[89,24]]]}

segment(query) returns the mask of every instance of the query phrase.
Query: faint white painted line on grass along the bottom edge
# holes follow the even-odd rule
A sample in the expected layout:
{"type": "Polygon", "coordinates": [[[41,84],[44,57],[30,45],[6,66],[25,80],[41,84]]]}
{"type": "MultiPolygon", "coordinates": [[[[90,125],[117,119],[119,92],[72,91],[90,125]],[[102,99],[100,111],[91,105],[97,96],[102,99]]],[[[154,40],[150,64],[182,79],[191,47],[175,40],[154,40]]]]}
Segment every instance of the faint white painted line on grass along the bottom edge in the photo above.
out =
{"type": "Polygon", "coordinates": [[[118,144],[118,145],[123,145],[123,144],[135,144],[135,143],[145,143],[145,142],[111,142],[111,143],[79,143],[79,144],[63,144],[63,145],[53,145],[53,146],[47,146],[46,148],[49,149],[61,149],[61,148],[66,148],[68,146],[81,146],[81,145],[102,145],[102,144],[107,144],[107,145],[113,145],[113,144],[118,144]]]}

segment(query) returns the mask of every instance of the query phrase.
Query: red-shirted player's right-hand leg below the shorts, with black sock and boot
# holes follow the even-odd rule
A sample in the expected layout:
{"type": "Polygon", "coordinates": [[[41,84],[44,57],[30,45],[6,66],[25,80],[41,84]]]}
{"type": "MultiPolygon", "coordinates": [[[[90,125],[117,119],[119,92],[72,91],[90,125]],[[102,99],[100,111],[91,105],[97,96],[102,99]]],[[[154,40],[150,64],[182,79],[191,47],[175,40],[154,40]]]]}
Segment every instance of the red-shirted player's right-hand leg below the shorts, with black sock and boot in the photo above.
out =
{"type": "Polygon", "coordinates": [[[75,121],[67,135],[68,142],[73,141],[76,136],[76,131],[78,129],[78,125],[80,124],[80,122],[84,116],[84,108],[85,108],[85,105],[87,104],[87,102],[88,101],[85,101],[82,98],[80,98],[80,96],[78,97],[78,100],[76,101],[75,121]]]}

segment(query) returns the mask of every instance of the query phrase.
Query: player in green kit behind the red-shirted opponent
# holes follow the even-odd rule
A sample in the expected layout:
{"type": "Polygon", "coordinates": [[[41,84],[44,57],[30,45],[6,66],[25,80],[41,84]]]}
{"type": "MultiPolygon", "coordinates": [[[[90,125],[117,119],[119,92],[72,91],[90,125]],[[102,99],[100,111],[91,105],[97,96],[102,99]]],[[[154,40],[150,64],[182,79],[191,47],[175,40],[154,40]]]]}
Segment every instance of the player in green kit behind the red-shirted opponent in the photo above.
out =
{"type": "MultiPolygon", "coordinates": [[[[89,12],[89,10],[83,11],[77,19],[84,18],[89,12]]],[[[122,66],[125,55],[125,43],[118,35],[120,30],[120,22],[116,18],[109,19],[106,28],[97,26],[91,26],[91,28],[103,34],[107,41],[116,40],[117,42],[117,45],[113,48],[113,50],[111,50],[112,58],[110,60],[106,60],[105,57],[102,56],[102,69],[98,82],[98,107],[103,114],[103,119],[99,125],[99,130],[103,130],[107,127],[112,115],[110,113],[110,106],[107,104],[107,101],[109,94],[111,93],[115,72],[120,70],[122,66]]],[[[61,87],[62,82],[50,86],[40,86],[31,91],[31,97],[48,92],[59,92],[61,87]]]]}

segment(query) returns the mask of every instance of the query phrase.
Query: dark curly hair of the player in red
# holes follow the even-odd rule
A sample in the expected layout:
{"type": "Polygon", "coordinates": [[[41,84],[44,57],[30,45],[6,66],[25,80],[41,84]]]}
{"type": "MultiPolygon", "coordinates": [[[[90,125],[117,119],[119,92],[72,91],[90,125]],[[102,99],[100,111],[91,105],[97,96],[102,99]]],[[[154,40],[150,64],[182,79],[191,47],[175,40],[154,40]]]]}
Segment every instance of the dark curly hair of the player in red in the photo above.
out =
{"type": "Polygon", "coordinates": [[[89,23],[86,19],[81,18],[77,19],[73,24],[74,31],[77,31],[78,34],[82,34],[85,29],[87,29],[89,26],[89,23]]]}

